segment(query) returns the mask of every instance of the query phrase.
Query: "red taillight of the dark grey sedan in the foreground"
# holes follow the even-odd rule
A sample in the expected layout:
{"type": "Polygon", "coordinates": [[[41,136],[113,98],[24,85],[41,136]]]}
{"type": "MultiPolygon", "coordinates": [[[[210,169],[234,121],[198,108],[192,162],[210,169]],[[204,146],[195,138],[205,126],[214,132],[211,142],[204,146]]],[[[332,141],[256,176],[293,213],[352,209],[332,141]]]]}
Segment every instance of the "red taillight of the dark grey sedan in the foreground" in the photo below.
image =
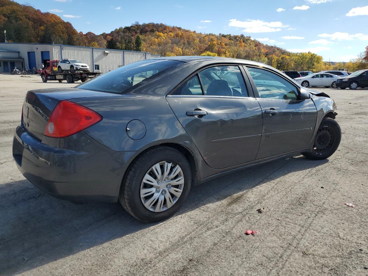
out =
{"type": "Polygon", "coordinates": [[[102,120],[102,116],[93,110],[68,100],[57,104],[45,132],[46,136],[63,138],[82,131],[102,120]]]}

